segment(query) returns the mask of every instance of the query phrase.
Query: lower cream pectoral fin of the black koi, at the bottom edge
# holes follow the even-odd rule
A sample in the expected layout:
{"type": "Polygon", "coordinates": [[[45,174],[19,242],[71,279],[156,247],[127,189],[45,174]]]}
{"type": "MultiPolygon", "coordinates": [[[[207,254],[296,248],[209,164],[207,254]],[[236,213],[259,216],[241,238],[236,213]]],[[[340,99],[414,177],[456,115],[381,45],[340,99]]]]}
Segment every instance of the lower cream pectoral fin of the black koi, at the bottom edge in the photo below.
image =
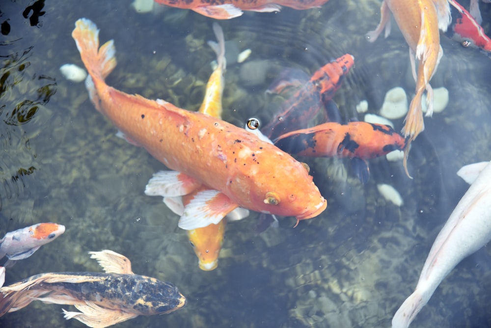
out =
{"type": "Polygon", "coordinates": [[[134,313],[103,308],[88,301],[85,304],[76,304],[75,307],[81,312],[62,309],[64,318],[77,319],[92,328],[104,328],[137,317],[134,313]]]}

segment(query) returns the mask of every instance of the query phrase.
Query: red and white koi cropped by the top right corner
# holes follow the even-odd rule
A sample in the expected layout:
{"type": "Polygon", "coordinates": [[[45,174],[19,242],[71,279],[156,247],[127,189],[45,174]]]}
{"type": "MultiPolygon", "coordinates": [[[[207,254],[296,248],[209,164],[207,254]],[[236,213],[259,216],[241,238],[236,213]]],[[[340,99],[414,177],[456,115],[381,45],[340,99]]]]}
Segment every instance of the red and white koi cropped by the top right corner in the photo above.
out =
{"type": "Polygon", "coordinates": [[[491,39],[484,33],[477,20],[457,1],[448,2],[457,9],[457,19],[452,26],[452,38],[462,42],[465,47],[477,47],[491,52],[491,39]]]}

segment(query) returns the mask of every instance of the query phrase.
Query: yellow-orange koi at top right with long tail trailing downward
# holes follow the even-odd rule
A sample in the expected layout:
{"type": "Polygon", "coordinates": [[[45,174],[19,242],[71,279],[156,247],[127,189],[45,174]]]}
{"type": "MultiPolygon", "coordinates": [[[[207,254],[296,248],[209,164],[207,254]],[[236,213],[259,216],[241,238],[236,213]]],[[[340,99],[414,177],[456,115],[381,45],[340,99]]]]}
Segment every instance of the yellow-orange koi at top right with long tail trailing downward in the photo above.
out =
{"type": "Polygon", "coordinates": [[[405,149],[404,169],[408,172],[409,145],[423,130],[423,110],[421,98],[426,90],[426,116],[433,114],[433,89],[430,79],[438,67],[443,50],[440,46],[438,29],[446,31],[450,24],[450,7],[447,0],[384,0],[381,7],[381,20],[379,26],[367,33],[366,37],[374,42],[385,27],[385,37],[390,33],[390,16],[392,12],[397,25],[401,29],[409,45],[409,58],[411,60],[412,75],[416,81],[416,95],[409,105],[405,125],[402,129],[404,137],[408,138],[405,149]],[[416,75],[415,59],[418,59],[418,73],[416,75]]]}

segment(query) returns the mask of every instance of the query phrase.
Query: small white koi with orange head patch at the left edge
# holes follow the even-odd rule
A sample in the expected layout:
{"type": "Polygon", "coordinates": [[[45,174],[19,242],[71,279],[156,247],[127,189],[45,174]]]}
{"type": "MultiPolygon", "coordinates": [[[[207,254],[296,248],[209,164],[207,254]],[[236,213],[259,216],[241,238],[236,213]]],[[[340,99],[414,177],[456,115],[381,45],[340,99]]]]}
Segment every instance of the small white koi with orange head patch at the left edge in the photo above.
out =
{"type": "Polygon", "coordinates": [[[65,226],[57,223],[38,223],[7,232],[0,239],[0,259],[7,256],[4,266],[9,268],[15,261],[31,256],[39,247],[54,241],[65,232],[65,226]]]}

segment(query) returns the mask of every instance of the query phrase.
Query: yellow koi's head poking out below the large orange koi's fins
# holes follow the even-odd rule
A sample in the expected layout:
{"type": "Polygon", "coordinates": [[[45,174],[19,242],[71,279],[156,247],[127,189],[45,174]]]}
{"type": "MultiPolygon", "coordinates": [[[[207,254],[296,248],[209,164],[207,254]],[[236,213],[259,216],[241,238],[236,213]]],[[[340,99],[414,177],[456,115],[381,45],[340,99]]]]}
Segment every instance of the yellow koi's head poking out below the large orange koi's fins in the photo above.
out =
{"type": "Polygon", "coordinates": [[[188,230],[189,242],[198,257],[199,269],[215,270],[218,266],[218,254],[223,243],[226,219],[218,224],[210,224],[203,228],[188,230]]]}

